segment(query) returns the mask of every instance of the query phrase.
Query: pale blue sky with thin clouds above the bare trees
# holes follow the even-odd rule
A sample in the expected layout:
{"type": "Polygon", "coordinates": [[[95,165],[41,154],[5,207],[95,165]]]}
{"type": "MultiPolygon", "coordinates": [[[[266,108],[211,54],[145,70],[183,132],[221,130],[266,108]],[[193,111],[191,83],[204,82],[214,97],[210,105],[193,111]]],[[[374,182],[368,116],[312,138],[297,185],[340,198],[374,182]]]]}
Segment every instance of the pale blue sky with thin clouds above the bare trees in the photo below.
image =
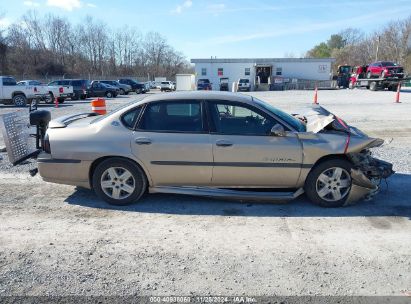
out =
{"type": "Polygon", "coordinates": [[[302,57],[347,27],[374,32],[411,16],[411,0],[0,0],[0,27],[32,9],[156,31],[188,59],[272,58],[302,57]]]}

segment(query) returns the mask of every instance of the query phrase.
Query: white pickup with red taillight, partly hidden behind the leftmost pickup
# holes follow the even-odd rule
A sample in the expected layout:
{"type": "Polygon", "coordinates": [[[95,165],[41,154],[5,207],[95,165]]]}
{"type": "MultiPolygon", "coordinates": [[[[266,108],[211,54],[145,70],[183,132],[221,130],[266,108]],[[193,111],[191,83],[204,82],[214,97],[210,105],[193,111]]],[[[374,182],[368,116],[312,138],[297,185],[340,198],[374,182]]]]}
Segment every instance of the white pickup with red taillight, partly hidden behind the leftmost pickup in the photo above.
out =
{"type": "Polygon", "coordinates": [[[73,95],[73,87],[68,85],[45,85],[37,80],[22,80],[17,85],[35,86],[41,94],[40,100],[45,103],[53,103],[56,98],[59,103],[63,103],[73,95]]]}

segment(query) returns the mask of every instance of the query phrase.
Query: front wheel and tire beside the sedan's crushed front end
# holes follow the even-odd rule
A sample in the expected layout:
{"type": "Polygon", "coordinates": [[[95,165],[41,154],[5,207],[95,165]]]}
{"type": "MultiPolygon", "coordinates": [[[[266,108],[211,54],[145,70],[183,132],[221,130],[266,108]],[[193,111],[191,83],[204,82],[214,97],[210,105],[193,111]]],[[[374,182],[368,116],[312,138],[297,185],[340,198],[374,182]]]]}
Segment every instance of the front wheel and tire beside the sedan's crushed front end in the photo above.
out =
{"type": "Polygon", "coordinates": [[[345,159],[329,159],[316,165],[305,181],[308,198],[321,207],[344,206],[351,191],[351,168],[345,159]]]}

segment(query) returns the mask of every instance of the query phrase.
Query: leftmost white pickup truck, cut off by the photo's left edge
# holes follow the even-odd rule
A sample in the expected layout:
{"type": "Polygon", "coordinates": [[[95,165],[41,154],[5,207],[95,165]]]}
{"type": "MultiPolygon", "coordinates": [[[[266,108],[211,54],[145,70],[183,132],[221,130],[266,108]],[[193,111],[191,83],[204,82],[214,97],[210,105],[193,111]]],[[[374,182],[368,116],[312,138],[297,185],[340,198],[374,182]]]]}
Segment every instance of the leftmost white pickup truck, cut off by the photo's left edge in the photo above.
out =
{"type": "Polygon", "coordinates": [[[0,76],[0,103],[14,104],[25,107],[28,102],[38,100],[42,93],[36,86],[17,85],[16,80],[9,76],[0,76]]]}

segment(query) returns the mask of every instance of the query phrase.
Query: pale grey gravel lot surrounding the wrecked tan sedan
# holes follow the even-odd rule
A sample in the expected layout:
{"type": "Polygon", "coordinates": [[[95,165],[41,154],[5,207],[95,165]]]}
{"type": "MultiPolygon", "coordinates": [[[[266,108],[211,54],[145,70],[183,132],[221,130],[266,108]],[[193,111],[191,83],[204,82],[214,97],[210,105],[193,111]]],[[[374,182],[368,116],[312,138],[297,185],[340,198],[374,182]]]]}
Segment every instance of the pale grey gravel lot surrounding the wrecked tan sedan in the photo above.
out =
{"type": "MultiPolygon", "coordinates": [[[[292,112],[313,92],[252,95],[292,112]]],[[[329,210],[304,196],[276,205],[156,194],[115,208],[90,191],[31,178],[35,162],[12,167],[0,153],[0,295],[410,293],[411,92],[401,104],[393,92],[318,95],[386,140],[375,154],[397,174],[373,201],[329,210]]],[[[58,117],[89,111],[90,100],[41,107],[58,117]]],[[[0,114],[15,110],[0,105],[0,114]]]]}

